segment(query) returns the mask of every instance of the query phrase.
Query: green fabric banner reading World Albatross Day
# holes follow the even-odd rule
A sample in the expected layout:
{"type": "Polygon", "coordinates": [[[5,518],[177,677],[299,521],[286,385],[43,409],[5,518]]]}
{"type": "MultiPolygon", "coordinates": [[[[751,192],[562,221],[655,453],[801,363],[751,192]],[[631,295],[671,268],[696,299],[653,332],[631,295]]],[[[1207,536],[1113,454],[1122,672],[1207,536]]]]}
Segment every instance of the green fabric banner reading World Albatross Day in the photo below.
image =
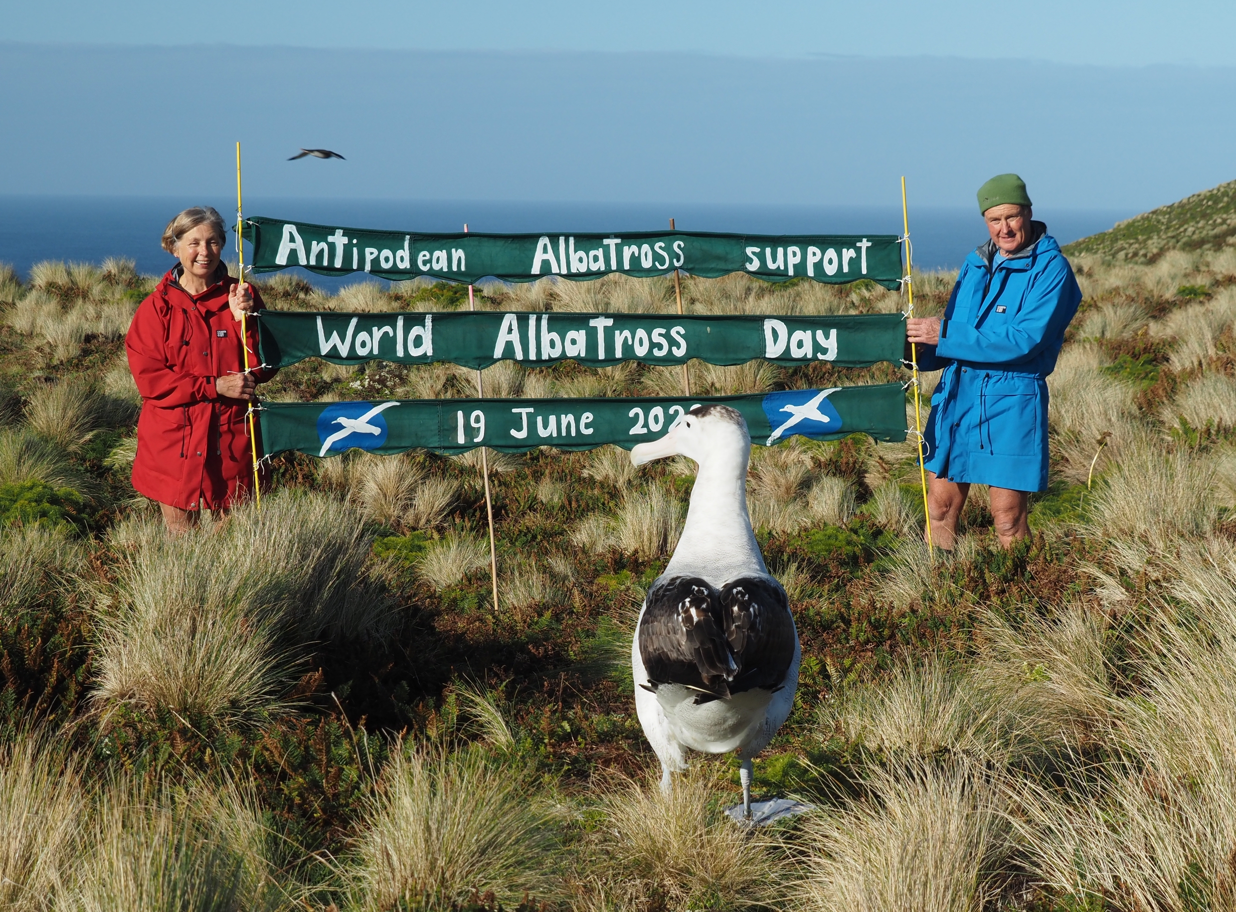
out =
{"type": "Polygon", "coordinates": [[[309,357],[336,365],[371,358],[405,365],[449,361],[486,367],[510,360],[548,365],[572,358],[588,367],[623,361],[779,365],[827,361],[864,367],[900,363],[901,314],[849,316],[665,316],[577,313],[335,314],[262,310],[262,363],[287,367],[309,357]]]}

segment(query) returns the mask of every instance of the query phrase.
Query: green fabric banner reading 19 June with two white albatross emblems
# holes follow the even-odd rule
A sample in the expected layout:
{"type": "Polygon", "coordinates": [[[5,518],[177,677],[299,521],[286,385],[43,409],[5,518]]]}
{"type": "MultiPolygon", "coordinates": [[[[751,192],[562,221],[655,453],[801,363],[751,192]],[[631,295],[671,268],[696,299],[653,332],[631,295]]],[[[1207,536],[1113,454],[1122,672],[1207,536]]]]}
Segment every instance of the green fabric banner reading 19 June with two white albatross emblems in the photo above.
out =
{"type": "Polygon", "coordinates": [[[900,383],[692,398],[263,402],[257,415],[268,455],[295,450],[321,457],[353,447],[381,455],[413,449],[461,454],[477,446],[525,452],[606,444],[630,449],[656,440],[684,412],[707,403],[738,409],[751,441],[765,446],[795,434],[815,440],[855,433],[885,441],[906,437],[900,383]]]}

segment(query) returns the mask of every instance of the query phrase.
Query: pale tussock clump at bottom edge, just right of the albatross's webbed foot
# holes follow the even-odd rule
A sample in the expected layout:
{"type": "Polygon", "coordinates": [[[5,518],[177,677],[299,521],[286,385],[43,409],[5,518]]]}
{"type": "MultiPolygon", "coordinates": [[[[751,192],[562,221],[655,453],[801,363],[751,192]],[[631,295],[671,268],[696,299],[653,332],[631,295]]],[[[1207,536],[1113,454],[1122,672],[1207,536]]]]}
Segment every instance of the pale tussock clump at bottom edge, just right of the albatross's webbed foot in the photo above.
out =
{"type": "Polygon", "coordinates": [[[1002,804],[981,770],[869,770],[865,800],[803,823],[802,908],[973,912],[1002,887],[1002,804]]]}

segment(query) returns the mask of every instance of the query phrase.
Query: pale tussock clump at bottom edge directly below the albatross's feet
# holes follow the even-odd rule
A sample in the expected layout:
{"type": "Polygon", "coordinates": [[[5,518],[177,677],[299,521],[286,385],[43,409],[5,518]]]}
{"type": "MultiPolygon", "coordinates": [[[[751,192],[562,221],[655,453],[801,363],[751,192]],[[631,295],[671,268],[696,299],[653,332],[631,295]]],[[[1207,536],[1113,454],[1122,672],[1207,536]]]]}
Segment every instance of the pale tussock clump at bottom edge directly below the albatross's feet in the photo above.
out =
{"type": "Polygon", "coordinates": [[[728,797],[702,772],[677,776],[670,793],[618,776],[586,834],[576,908],[785,908],[787,868],[719,812],[728,797]]]}

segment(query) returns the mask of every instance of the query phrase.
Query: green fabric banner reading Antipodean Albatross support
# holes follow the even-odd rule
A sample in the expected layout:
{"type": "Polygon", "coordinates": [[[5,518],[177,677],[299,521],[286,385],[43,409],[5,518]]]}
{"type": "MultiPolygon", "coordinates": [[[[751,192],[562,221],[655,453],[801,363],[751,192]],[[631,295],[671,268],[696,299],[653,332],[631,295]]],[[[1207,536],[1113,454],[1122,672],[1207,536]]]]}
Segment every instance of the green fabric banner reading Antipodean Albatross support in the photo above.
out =
{"type": "Polygon", "coordinates": [[[769,282],[806,276],[896,288],[902,274],[896,235],[418,235],[255,216],[245,220],[245,237],[253,242],[255,272],[302,266],[323,276],[367,272],[386,279],[533,282],[545,276],[595,279],[611,272],[649,278],[681,269],[706,278],[745,272],[769,282]]]}

